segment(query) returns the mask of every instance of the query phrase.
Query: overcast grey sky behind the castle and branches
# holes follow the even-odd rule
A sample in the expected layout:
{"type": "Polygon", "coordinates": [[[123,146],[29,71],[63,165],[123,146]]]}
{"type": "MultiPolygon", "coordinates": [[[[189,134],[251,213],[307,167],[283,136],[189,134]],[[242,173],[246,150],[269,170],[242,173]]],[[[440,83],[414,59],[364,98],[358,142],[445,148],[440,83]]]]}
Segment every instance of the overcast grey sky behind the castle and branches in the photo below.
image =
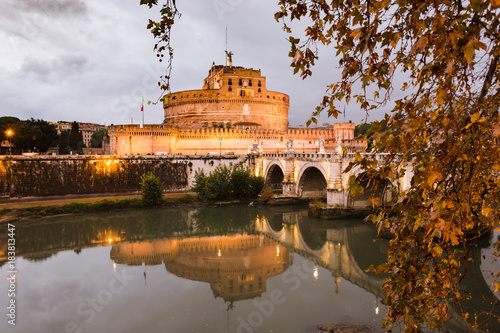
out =
{"type": "MultiPolygon", "coordinates": [[[[164,68],[146,29],[159,8],[139,0],[2,0],[0,3],[0,115],[20,119],[137,124],[163,121],[164,68]]],[[[161,2],[161,0],[160,0],[161,2]]],[[[261,69],[267,88],[290,96],[289,122],[304,124],[328,83],[339,79],[333,48],[323,48],[313,76],[293,75],[289,43],[274,20],[273,0],[178,0],[172,91],[201,89],[212,62],[225,63],[225,29],[233,65],[261,69]]],[[[343,108],[343,106],[340,106],[343,108]]],[[[345,120],[359,123],[354,103],[345,120]]],[[[369,121],[380,118],[371,114],[369,121]]],[[[323,116],[322,122],[342,121],[323,116]]]]}

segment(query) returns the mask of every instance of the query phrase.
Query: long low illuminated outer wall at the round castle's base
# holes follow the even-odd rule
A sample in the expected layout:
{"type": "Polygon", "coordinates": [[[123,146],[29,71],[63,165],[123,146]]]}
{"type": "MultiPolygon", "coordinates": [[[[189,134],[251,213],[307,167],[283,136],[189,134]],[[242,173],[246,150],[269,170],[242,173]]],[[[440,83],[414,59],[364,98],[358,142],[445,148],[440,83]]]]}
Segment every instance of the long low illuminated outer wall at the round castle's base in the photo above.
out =
{"type": "MultiPolygon", "coordinates": [[[[337,125],[337,124],[335,124],[337,125]]],[[[176,129],[164,125],[119,125],[109,128],[111,154],[205,155],[234,153],[246,155],[257,149],[263,153],[285,153],[292,138],[296,153],[314,153],[324,139],[325,152],[334,152],[336,134],[348,152],[365,151],[366,140],[354,139],[354,124],[342,123],[330,128],[289,128],[285,131],[242,128],[176,129]],[[255,147],[255,148],[254,148],[255,147]]]]}

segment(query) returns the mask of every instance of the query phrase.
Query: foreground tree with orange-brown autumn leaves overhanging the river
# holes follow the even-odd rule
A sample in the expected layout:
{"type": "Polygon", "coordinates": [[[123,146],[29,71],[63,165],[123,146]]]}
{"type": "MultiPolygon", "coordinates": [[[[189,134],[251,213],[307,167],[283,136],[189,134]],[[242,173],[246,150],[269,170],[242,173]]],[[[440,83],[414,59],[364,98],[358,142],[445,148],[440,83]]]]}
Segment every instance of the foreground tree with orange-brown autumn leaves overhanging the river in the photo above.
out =
{"type": "MultiPolygon", "coordinates": [[[[157,3],[141,0],[150,7],[157,3]]],[[[413,170],[411,189],[372,216],[393,236],[388,261],[379,267],[390,273],[386,324],[403,324],[408,332],[422,325],[439,328],[466,296],[459,282],[470,244],[484,230],[498,228],[500,1],[278,3],[275,18],[288,33],[290,21],[307,20],[305,35],[289,38],[295,73],[312,74],[318,44],[334,48],[338,57],[341,75],[309,123],[322,112],[337,117],[342,103],[354,101],[369,113],[387,106],[395,89],[404,93],[373,123],[375,151],[392,154],[384,163],[358,155],[356,164],[372,179],[395,184],[413,170]]],[[[148,26],[160,57],[165,50],[172,55],[176,15],[175,1],[164,0],[160,21],[148,26]]],[[[168,91],[168,84],[163,88],[168,91]]],[[[372,202],[377,206],[376,198],[372,202]]]]}

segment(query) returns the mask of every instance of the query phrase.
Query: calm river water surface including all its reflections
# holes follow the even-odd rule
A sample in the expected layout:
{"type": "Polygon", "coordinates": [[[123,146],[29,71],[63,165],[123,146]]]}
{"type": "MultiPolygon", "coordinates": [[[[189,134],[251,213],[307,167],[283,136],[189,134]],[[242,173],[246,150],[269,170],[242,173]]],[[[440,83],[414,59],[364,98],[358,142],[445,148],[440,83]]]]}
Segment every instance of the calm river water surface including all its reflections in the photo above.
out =
{"type": "MultiPolygon", "coordinates": [[[[5,314],[16,304],[16,325],[3,314],[1,332],[319,332],[318,324],[385,331],[384,277],[367,270],[384,261],[387,244],[360,219],[234,206],[22,221],[8,299],[8,230],[0,228],[5,314]]],[[[498,271],[489,248],[496,237],[483,240],[463,281],[473,294],[469,311],[498,301],[488,277],[498,271]]],[[[457,319],[447,330],[466,331],[457,319]]]]}

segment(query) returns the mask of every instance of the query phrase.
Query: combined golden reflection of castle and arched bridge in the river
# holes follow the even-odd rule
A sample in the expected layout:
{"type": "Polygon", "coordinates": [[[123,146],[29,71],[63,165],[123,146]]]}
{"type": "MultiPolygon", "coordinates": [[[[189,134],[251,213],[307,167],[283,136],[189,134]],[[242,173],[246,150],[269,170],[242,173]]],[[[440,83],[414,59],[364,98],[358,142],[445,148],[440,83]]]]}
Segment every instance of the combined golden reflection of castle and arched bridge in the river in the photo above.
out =
{"type": "Polygon", "coordinates": [[[110,256],[116,264],[164,264],[168,272],[207,282],[216,297],[234,302],[260,296],[267,279],[285,272],[297,253],[329,270],[337,293],[343,278],[381,299],[384,277],[366,272],[384,259],[385,243],[374,241],[374,229],[359,221],[324,229],[312,221],[306,210],[263,209],[252,221],[250,233],[214,236],[198,230],[200,221],[194,217],[191,231],[183,237],[118,242],[110,256]],[[355,254],[361,255],[361,263],[355,254]]]}

